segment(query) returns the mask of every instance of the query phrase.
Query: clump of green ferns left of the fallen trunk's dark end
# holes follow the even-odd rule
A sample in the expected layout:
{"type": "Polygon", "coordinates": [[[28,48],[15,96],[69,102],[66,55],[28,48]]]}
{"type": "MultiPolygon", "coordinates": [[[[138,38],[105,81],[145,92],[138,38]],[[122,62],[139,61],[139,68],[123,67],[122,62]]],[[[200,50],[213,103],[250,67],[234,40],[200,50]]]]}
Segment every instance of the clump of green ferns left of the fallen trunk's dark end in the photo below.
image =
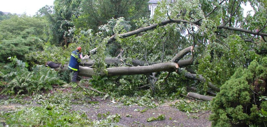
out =
{"type": "Polygon", "coordinates": [[[16,57],[12,57],[10,60],[11,63],[5,66],[10,72],[1,75],[3,82],[6,82],[1,93],[28,92],[31,94],[42,89],[51,90],[52,85],[55,84],[65,84],[64,81],[58,79],[57,72],[50,68],[36,65],[30,72],[25,68],[27,63],[18,60],[16,57]]]}

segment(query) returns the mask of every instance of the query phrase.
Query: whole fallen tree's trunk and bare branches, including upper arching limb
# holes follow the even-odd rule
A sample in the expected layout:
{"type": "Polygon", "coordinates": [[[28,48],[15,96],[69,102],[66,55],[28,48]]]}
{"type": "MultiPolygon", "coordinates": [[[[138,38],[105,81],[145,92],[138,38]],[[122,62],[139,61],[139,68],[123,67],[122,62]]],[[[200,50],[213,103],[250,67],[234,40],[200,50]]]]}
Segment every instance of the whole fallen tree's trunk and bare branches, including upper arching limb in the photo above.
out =
{"type": "MultiPolygon", "coordinates": [[[[262,30],[264,28],[266,28],[266,23],[264,24],[264,26],[262,26],[261,30],[254,32],[252,30],[246,30],[245,28],[239,27],[237,28],[237,26],[232,27],[231,26],[231,18],[234,15],[234,13],[236,12],[236,10],[239,8],[240,4],[236,7],[235,11],[231,11],[231,16],[227,21],[223,21],[223,24],[219,24],[218,23],[216,25],[212,24],[211,26],[203,23],[203,20],[205,20],[206,18],[210,17],[210,15],[212,15],[212,13],[214,13],[217,8],[220,8],[220,5],[223,4],[225,0],[221,1],[217,6],[215,6],[212,11],[210,11],[209,13],[207,13],[206,15],[204,15],[202,18],[199,19],[194,19],[192,21],[189,21],[189,19],[175,19],[176,17],[169,17],[168,15],[168,19],[164,20],[164,21],[160,21],[158,23],[154,23],[154,24],[150,24],[149,26],[145,26],[142,28],[139,28],[137,30],[133,30],[133,31],[129,31],[129,32],[125,32],[125,33],[120,33],[120,34],[113,34],[111,37],[109,37],[109,39],[107,39],[104,43],[105,44],[111,44],[114,41],[116,41],[116,39],[119,38],[126,38],[126,37],[131,37],[131,36],[139,36],[141,34],[143,34],[144,32],[147,32],[149,30],[154,30],[163,26],[167,26],[168,24],[187,24],[188,26],[191,27],[192,30],[190,30],[190,27],[187,27],[187,31],[188,33],[192,36],[193,38],[193,46],[184,48],[183,50],[181,50],[180,52],[178,52],[170,61],[168,62],[163,62],[163,60],[161,60],[160,62],[158,61],[142,61],[142,60],[138,60],[138,59],[131,59],[130,63],[126,63],[126,61],[123,59],[122,54],[123,52],[125,52],[125,50],[121,50],[120,54],[115,57],[115,58],[105,58],[104,62],[105,64],[108,65],[107,67],[107,74],[104,72],[99,73],[100,76],[116,76],[116,75],[146,75],[149,83],[151,84],[151,89],[153,89],[154,84],[158,81],[158,78],[156,77],[156,72],[161,72],[161,71],[167,71],[167,72],[176,72],[179,75],[183,75],[185,78],[187,79],[191,79],[191,80],[196,80],[196,81],[200,81],[200,82],[205,82],[206,84],[208,84],[208,87],[210,87],[212,90],[215,90],[217,92],[220,91],[220,88],[214,86],[214,84],[212,83],[212,80],[207,80],[203,77],[203,75],[198,75],[198,74],[193,74],[187,71],[183,71],[183,69],[186,66],[192,65],[193,61],[194,61],[194,52],[193,52],[193,47],[195,46],[196,42],[195,41],[199,41],[199,43],[204,43],[202,41],[208,41],[206,43],[210,43],[210,41],[212,41],[212,43],[218,43],[221,44],[223,46],[225,46],[225,48],[229,48],[229,46],[227,44],[225,44],[225,41],[221,41],[222,39],[227,38],[225,35],[221,34],[219,30],[221,31],[232,31],[232,32],[236,32],[239,33],[240,36],[242,37],[242,42],[245,41],[250,41],[253,42],[253,38],[257,35],[257,36],[261,36],[261,38],[265,41],[264,37],[267,37],[267,34],[262,32],[262,30]],[[229,23],[229,26],[227,25],[229,23]],[[203,25],[204,24],[204,25],[203,25]],[[198,28],[198,32],[195,32],[193,29],[193,26],[196,26],[198,28]],[[214,32],[214,36],[212,37],[214,40],[210,40],[211,38],[209,37],[204,37],[204,38],[200,38],[198,39],[197,36],[195,34],[199,34],[198,36],[210,36],[210,33],[207,33],[206,30],[203,30],[205,28],[209,28],[209,29],[217,29],[214,31],[210,31],[210,32],[214,32]],[[250,37],[249,35],[254,35],[250,40],[247,40],[246,38],[250,37]],[[221,38],[220,38],[221,37],[221,38]],[[184,59],[181,60],[185,55],[187,55],[189,52],[192,52],[192,57],[190,59],[184,59]],[[116,66],[113,68],[109,68],[109,66],[116,66]],[[129,66],[129,67],[125,67],[125,66],[129,66]],[[210,82],[211,81],[211,82],[210,82]]],[[[233,5],[234,6],[234,5],[233,5]]],[[[233,9],[233,8],[232,8],[233,9]]],[[[178,17],[178,16],[177,16],[178,17]]],[[[191,19],[190,19],[191,20],[191,19]]],[[[166,31],[164,36],[166,35],[166,31]]],[[[227,34],[226,34],[227,35],[227,34]]],[[[231,34],[230,34],[231,35],[231,34]]],[[[166,37],[167,40],[168,37],[166,37]]],[[[166,41],[165,40],[165,41],[166,41]]],[[[236,38],[234,38],[233,40],[236,40],[236,38]]],[[[164,54],[165,50],[164,50],[164,42],[163,46],[162,46],[162,54],[164,54]]],[[[156,44],[155,44],[156,45],[156,44]]],[[[203,44],[205,47],[205,44],[203,44]]],[[[208,45],[208,44],[207,44],[208,45]]],[[[253,46],[252,46],[253,47],[253,46]]],[[[97,52],[98,48],[94,48],[92,50],[90,50],[89,55],[94,55],[97,52]]],[[[207,51],[207,50],[206,50],[207,51]]],[[[102,53],[102,52],[101,52],[102,53]]],[[[215,52],[216,53],[216,52],[215,52]]],[[[220,54],[223,54],[223,52],[220,51],[220,54]]],[[[221,59],[221,55],[219,53],[217,54],[218,59],[221,59]]],[[[214,52],[213,50],[211,51],[210,55],[212,55],[212,59],[213,59],[213,55],[214,52]]],[[[164,55],[162,55],[163,58],[164,55]]],[[[240,61],[240,63],[242,63],[242,61],[239,59],[238,56],[234,56],[234,59],[237,59],[237,61],[240,61]]],[[[227,60],[229,60],[230,58],[228,58],[227,60]]],[[[212,61],[212,60],[210,60],[212,61]]],[[[86,76],[86,77],[92,77],[93,75],[96,75],[96,73],[94,72],[94,69],[92,68],[93,65],[95,64],[96,61],[91,60],[90,57],[87,59],[83,59],[83,61],[81,62],[81,66],[80,66],[80,72],[78,75],[80,76],[86,76]]],[[[198,62],[198,61],[197,61],[198,62]]],[[[231,63],[231,62],[230,62],[231,63]]],[[[235,63],[235,62],[232,62],[235,63]]],[[[242,63],[243,66],[246,66],[246,63],[242,63]]],[[[67,65],[55,65],[51,62],[48,62],[46,64],[47,66],[50,66],[51,68],[57,68],[57,69],[67,69],[67,65]],[[51,66],[50,66],[51,64],[51,66]]],[[[232,66],[232,65],[231,65],[232,66]]],[[[187,68],[187,70],[190,68],[187,68]]],[[[193,71],[191,71],[193,72],[193,71]]],[[[168,74],[169,75],[169,74],[168,74]]],[[[167,79],[168,75],[166,76],[165,79],[167,79]]],[[[220,84],[218,84],[220,86],[220,84]]]]}

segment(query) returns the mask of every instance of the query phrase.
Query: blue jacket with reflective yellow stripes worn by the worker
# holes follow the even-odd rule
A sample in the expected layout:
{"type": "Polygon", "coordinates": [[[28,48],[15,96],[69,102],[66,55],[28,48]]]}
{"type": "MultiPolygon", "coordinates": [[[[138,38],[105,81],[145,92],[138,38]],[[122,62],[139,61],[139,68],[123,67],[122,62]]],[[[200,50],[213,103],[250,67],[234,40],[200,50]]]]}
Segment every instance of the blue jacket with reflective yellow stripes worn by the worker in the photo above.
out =
{"type": "Polygon", "coordinates": [[[78,52],[76,51],[72,51],[71,52],[71,59],[70,59],[70,62],[68,64],[68,68],[70,70],[75,70],[75,71],[78,71],[79,70],[79,62],[78,62],[78,59],[80,59],[80,55],[78,52]]]}

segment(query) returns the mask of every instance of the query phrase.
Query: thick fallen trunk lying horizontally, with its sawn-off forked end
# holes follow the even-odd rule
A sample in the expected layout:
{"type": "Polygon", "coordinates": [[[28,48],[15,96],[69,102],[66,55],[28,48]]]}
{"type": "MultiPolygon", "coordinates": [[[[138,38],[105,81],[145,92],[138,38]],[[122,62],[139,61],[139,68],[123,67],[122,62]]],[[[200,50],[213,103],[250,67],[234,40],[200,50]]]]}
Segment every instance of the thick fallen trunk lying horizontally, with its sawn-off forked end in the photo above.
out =
{"type": "MultiPolygon", "coordinates": [[[[203,78],[202,75],[196,75],[191,74],[190,72],[182,72],[180,66],[186,66],[191,65],[193,63],[194,57],[192,56],[190,59],[181,60],[187,53],[193,52],[193,46],[189,46],[180,52],[178,52],[177,55],[175,55],[170,62],[164,62],[164,63],[156,63],[149,66],[144,66],[144,61],[140,60],[133,60],[133,64],[130,67],[113,67],[113,68],[107,68],[107,74],[104,72],[100,72],[100,76],[118,76],[118,75],[148,75],[147,78],[150,79],[150,83],[154,85],[157,81],[157,78],[155,77],[155,72],[161,72],[161,71],[167,71],[167,72],[176,72],[179,75],[185,76],[187,79],[197,80],[201,82],[206,82],[206,80],[203,78]],[[180,61],[180,62],[179,62],[180,61]],[[141,63],[141,64],[140,64],[141,63]],[[152,75],[150,75],[152,73],[152,75]]],[[[106,62],[108,65],[120,65],[118,58],[107,58],[106,62]]],[[[123,62],[122,59],[120,59],[120,62],[123,62]]],[[[125,64],[125,62],[123,62],[125,64]]],[[[122,64],[123,64],[122,63],[122,64]]],[[[79,68],[79,76],[84,77],[92,77],[94,75],[97,75],[93,68],[90,68],[93,66],[93,61],[90,59],[84,59],[82,62],[82,65],[79,68]],[[88,67],[89,66],[89,67],[88,67]]],[[[54,68],[55,70],[66,70],[68,69],[68,65],[61,65],[58,63],[53,63],[52,61],[49,61],[46,63],[46,66],[49,66],[50,68],[54,68]]],[[[211,89],[219,92],[220,89],[214,86],[212,83],[208,83],[208,87],[211,89]]]]}

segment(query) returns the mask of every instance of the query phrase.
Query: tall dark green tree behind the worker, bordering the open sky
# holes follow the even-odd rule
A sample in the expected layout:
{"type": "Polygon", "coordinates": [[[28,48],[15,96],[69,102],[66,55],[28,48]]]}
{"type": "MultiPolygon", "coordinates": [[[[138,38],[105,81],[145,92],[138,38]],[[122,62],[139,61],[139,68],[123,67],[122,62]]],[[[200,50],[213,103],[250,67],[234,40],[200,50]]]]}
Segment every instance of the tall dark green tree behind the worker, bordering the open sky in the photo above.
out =
{"type": "Polygon", "coordinates": [[[50,42],[57,45],[68,45],[73,42],[73,21],[79,15],[81,0],[55,0],[54,6],[44,6],[39,16],[47,17],[50,22],[50,42]]]}

